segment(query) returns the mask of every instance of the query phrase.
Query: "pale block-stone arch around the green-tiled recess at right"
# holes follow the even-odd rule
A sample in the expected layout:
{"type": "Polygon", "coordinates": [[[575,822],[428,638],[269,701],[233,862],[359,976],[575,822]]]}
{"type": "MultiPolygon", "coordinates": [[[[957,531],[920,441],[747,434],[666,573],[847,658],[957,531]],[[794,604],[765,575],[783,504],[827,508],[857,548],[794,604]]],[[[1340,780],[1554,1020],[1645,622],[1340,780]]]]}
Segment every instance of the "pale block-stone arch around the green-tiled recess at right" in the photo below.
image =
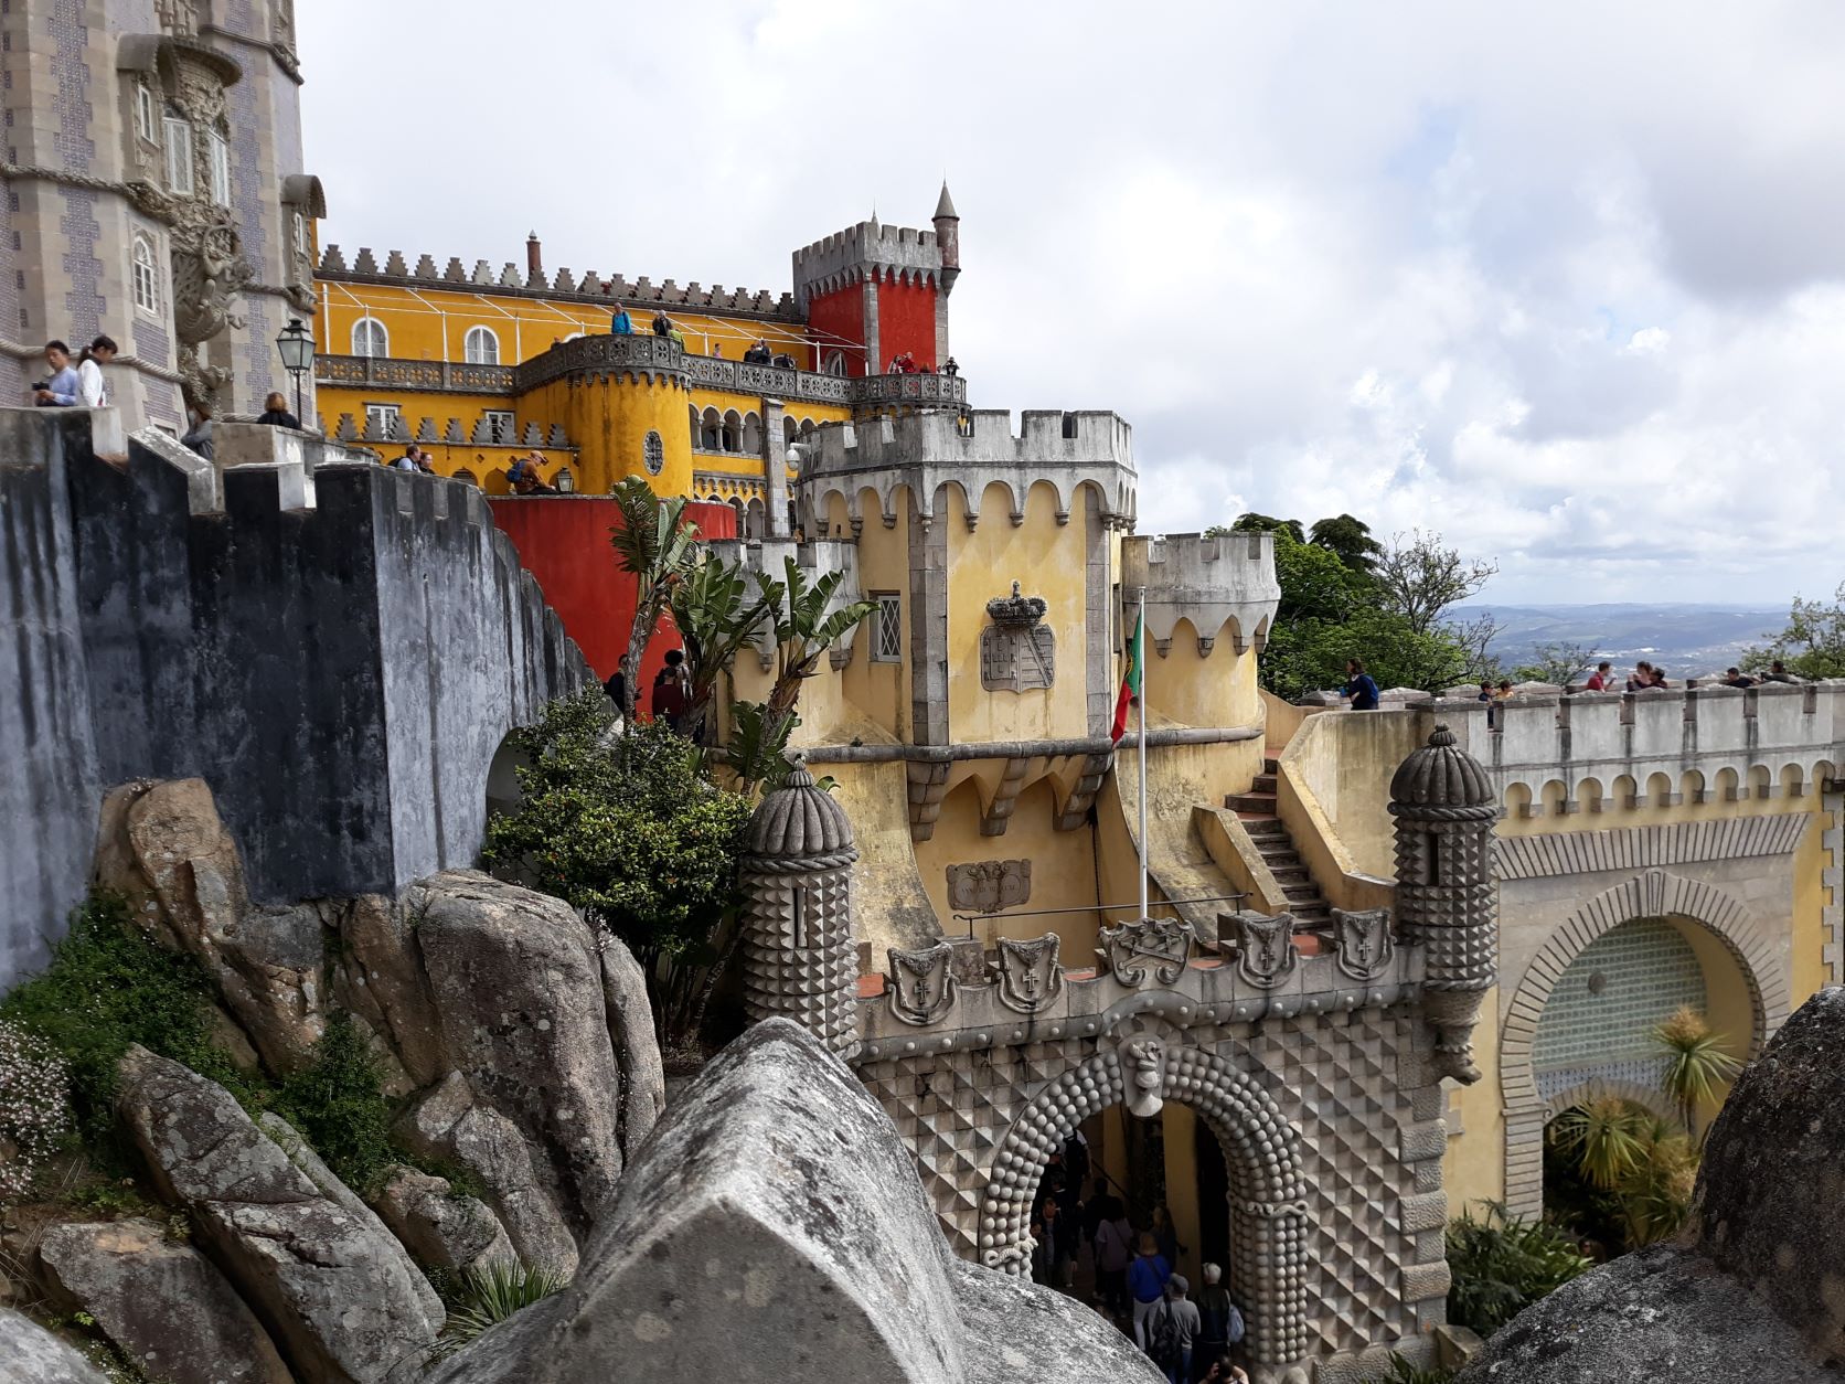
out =
{"type": "MultiPolygon", "coordinates": [[[[1587,989],[1594,974],[1592,969],[1577,971],[1566,984],[1572,965],[1589,956],[1598,939],[1637,921],[1673,930],[1696,954],[1703,972],[1707,1017],[1714,1028],[1738,1039],[1738,1046],[1745,1048],[1740,1056],[1760,1052],[1768,1035],[1788,1017],[1786,965],[1742,901],[1723,889],[1664,869],[1648,869],[1585,902],[1552,930],[1550,941],[1526,967],[1524,980],[1506,1006],[1500,1085],[1506,1096],[1506,1205],[1513,1214],[1533,1218],[1544,1209],[1544,1126],[1561,1109],[1555,1100],[1589,1080],[1635,1081],[1631,1072],[1614,1067],[1583,1070],[1594,1063],[1572,1056],[1568,1028],[1561,1026],[1546,1041],[1550,1076],[1541,1083],[1537,1039],[1559,987],[1565,1002],[1574,1004],[1570,991],[1587,989]],[[1572,1061],[1577,1065],[1570,1067],[1572,1061]],[[1553,1092],[1550,1098],[1544,1094],[1546,1087],[1553,1092]]],[[[1655,945],[1662,954],[1683,958],[1662,941],[1664,934],[1657,926],[1631,934],[1633,941],[1616,947],[1655,945]]],[[[1686,980],[1675,984],[1688,991],[1686,980]]],[[[1561,1013],[1568,1015],[1570,1009],[1561,1013]]]]}

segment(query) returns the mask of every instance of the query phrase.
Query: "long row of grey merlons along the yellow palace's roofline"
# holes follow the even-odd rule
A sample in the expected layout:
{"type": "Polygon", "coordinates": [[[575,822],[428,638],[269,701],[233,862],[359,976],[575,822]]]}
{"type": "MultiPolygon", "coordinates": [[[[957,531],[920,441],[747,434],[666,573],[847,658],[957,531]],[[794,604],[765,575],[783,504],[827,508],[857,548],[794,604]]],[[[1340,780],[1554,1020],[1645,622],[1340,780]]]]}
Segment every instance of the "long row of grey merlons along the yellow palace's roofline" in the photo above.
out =
{"type": "Polygon", "coordinates": [[[411,268],[404,251],[393,249],[380,268],[378,257],[362,247],[347,264],[339,245],[327,245],[321,253],[317,277],[334,282],[362,284],[406,284],[413,288],[439,288],[470,293],[507,293],[515,297],[568,299],[572,303],[598,303],[601,306],[629,306],[655,312],[659,308],[679,308],[681,312],[725,312],[751,317],[799,319],[793,293],[773,293],[768,288],[725,288],[712,284],[705,288],[697,280],[681,286],[675,279],[655,284],[649,277],[629,280],[624,275],[603,279],[594,269],[581,275],[570,269],[557,269],[552,275],[541,271],[520,273],[518,266],[507,260],[498,273],[489,260],[474,260],[469,269],[459,257],[450,257],[446,268],[437,269],[432,255],[419,255],[411,268]]]}

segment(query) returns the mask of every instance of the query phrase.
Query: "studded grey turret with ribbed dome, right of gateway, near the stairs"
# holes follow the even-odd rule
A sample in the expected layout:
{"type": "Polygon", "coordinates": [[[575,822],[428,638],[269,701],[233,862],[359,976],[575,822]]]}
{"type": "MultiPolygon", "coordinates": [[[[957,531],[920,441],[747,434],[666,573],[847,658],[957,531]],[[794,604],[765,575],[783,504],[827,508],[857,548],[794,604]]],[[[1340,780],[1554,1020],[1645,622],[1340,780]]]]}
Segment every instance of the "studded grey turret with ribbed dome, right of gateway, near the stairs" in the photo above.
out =
{"type": "Polygon", "coordinates": [[[1437,725],[1389,784],[1397,817],[1397,926],[1422,943],[1422,1013],[1435,1026],[1435,1068],[1456,1081],[1480,1080],[1474,1022],[1498,978],[1498,891],[1493,884],[1493,823],[1498,793],[1472,755],[1437,725]]]}

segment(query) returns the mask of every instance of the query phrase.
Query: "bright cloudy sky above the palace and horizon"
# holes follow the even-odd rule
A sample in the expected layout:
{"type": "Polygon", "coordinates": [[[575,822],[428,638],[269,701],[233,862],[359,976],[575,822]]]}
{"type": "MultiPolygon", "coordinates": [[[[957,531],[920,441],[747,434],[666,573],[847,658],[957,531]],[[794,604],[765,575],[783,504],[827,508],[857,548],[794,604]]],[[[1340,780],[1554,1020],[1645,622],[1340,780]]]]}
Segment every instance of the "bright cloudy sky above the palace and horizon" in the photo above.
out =
{"type": "Polygon", "coordinates": [[[308,0],[325,234],[777,293],[961,212],[982,408],[1140,531],[1349,511],[1502,602],[1845,578],[1845,6],[308,0]]]}

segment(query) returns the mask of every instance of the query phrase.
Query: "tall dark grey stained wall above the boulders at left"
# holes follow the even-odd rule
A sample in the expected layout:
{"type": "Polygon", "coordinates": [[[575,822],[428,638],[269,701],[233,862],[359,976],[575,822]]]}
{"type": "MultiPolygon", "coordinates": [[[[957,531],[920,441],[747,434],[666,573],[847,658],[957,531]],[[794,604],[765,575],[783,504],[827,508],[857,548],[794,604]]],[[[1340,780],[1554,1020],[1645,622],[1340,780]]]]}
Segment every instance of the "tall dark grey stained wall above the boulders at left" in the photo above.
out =
{"type": "Polygon", "coordinates": [[[328,463],[186,476],[0,410],[0,989],[81,897],[101,790],[203,777],[262,902],[472,865],[506,733],[589,675],[480,493],[328,463]]]}

